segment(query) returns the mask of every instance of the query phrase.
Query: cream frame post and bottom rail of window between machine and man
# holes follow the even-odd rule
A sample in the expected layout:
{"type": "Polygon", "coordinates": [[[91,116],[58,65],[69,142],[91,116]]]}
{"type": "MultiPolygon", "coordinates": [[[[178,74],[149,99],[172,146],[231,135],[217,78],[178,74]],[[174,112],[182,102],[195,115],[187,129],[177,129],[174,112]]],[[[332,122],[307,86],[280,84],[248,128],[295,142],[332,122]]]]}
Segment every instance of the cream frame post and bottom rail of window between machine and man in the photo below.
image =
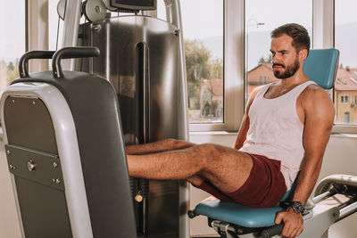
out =
{"type": "Polygon", "coordinates": [[[223,1],[223,122],[190,123],[190,132],[237,131],[245,107],[245,0],[223,1]]]}

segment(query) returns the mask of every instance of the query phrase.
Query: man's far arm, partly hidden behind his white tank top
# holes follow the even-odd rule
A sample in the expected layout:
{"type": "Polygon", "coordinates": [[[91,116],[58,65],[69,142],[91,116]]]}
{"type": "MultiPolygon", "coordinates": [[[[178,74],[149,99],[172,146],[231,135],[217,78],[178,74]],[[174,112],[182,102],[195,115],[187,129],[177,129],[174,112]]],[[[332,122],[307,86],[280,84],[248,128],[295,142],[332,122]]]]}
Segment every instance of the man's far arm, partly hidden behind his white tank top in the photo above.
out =
{"type": "Polygon", "coordinates": [[[249,96],[248,102],[246,103],[245,106],[245,115],[242,119],[242,123],[239,127],[236,143],[234,144],[233,148],[239,150],[242,148],[243,144],[245,144],[245,139],[246,139],[246,134],[248,133],[249,130],[249,109],[251,108],[251,105],[255,99],[256,94],[259,93],[259,91],[262,90],[262,86],[255,87],[252,91],[252,93],[249,96]]]}

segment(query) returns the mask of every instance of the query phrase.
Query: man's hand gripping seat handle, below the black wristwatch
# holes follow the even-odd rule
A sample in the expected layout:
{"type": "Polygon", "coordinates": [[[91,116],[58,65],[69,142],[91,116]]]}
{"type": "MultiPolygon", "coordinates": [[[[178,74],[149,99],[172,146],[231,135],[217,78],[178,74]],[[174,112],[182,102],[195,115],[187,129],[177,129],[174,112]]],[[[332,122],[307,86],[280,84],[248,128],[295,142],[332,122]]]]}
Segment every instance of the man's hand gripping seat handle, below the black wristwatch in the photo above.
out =
{"type": "Polygon", "coordinates": [[[281,232],[283,237],[296,237],[303,232],[303,216],[301,213],[295,213],[291,208],[281,211],[275,218],[275,224],[284,221],[284,229],[281,232]]]}

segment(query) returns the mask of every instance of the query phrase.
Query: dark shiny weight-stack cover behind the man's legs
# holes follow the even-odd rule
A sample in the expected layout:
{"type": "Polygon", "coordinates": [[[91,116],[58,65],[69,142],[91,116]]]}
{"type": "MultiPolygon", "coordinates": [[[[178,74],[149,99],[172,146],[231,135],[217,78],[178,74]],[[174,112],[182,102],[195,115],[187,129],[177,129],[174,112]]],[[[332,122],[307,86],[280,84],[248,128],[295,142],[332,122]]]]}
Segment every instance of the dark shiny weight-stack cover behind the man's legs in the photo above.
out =
{"type": "MultiPolygon", "coordinates": [[[[112,18],[82,28],[84,45],[98,47],[101,55],[84,60],[81,70],[89,68],[112,82],[126,143],[182,138],[186,132],[179,133],[179,117],[186,113],[179,109],[178,29],[146,16],[112,18]]],[[[180,197],[179,182],[149,181],[148,190],[143,204],[135,203],[138,232],[153,238],[185,237],[179,217],[186,221],[187,215],[179,209],[187,202],[179,199],[187,197],[180,197]]]]}

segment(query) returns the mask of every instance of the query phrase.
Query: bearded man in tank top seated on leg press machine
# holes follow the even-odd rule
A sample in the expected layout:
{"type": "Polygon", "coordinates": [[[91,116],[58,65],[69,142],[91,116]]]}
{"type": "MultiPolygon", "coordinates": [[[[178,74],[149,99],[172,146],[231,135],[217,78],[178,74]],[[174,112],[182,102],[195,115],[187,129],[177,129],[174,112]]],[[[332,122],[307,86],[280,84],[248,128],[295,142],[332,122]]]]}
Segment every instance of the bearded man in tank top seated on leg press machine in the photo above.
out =
{"type": "Polygon", "coordinates": [[[275,222],[284,221],[282,236],[301,234],[296,205],[305,204],[317,181],[335,114],[328,94],[303,73],[309,48],[302,26],[273,30],[272,67],[280,80],[253,90],[233,149],[175,140],[129,146],[129,175],[187,179],[220,200],[271,207],[299,173],[295,206],[278,213],[275,222]]]}

